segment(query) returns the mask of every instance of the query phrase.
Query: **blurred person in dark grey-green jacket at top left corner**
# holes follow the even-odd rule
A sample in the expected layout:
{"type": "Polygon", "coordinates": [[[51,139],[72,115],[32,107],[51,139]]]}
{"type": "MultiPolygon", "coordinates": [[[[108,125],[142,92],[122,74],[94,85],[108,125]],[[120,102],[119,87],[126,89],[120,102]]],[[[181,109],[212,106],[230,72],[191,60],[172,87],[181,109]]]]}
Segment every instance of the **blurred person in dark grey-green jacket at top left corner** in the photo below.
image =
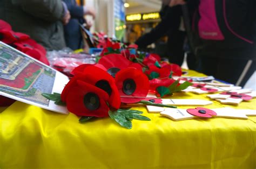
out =
{"type": "Polygon", "coordinates": [[[69,22],[70,14],[62,1],[0,0],[0,19],[14,31],[28,34],[46,50],[65,47],[63,24],[69,22]]]}

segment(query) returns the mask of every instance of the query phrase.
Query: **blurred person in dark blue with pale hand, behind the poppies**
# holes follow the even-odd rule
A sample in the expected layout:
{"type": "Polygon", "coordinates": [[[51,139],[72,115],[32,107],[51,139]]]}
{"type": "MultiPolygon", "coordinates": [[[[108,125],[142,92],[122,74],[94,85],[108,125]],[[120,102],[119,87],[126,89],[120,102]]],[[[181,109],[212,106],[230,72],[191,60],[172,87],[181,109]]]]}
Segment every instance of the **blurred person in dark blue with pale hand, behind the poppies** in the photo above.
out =
{"type": "MultiPolygon", "coordinates": [[[[76,0],[64,0],[71,14],[70,22],[64,26],[66,45],[72,50],[83,48],[83,37],[80,31],[80,24],[86,23],[85,15],[91,15],[95,18],[95,9],[85,6],[84,1],[80,0],[80,6],[76,0]]],[[[91,23],[86,23],[87,29],[91,23]]]]}

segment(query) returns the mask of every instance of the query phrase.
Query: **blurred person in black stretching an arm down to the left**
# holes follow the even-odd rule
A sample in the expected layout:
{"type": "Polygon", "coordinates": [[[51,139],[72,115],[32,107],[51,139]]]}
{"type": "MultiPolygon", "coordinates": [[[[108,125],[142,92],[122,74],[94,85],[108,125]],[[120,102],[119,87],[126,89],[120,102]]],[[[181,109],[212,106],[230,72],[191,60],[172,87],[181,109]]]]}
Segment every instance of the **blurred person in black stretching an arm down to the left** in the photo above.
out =
{"type": "MultiPolygon", "coordinates": [[[[185,2],[181,0],[163,0],[162,2],[163,5],[160,11],[161,22],[149,33],[140,37],[136,44],[140,48],[145,48],[167,34],[167,56],[169,61],[181,66],[184,60],[186,32],[181,20],[183,13],[180,5],[185,2]]],[[[193,57],[193,55],[190,57],[193,57]]],[[[196,67],[195,64],[195,61],[190,61],[188,62],[188,67],[194,69],[196,67]]]]}

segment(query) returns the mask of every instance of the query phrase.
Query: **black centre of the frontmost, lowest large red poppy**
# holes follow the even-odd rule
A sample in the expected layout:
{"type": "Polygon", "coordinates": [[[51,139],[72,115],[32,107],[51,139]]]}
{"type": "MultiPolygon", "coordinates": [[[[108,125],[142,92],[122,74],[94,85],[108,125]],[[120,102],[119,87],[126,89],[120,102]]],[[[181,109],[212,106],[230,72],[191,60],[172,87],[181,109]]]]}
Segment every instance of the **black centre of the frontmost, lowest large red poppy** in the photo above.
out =
{"type": "Polygon", "coordinates": [[[97,110],[100,106],[99,96],[95,93],[87,93],[84,95],[84,105],[88,110],[97,110]]]}

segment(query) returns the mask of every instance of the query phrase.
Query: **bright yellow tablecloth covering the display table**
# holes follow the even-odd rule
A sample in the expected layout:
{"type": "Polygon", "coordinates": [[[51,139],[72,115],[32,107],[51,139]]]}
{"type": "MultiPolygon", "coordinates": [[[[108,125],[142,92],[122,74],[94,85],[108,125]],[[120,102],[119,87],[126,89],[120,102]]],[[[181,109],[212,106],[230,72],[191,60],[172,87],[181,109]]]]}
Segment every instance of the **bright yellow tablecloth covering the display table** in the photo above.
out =
{"type": "MultiPolygon", "coordinates": [[[[191,76],[201,76],[190,71],[191,76]]],[[[205,95],[176,93],[171,98],[205,95]]],[[[206,108],[256,109],[256,98],[238,106],[215,102],[206,108]]],[[[194,107],[178,107],[194,108],[194,107]]],[[[256,117],[172,121],[149,114],[131,130],[110,118],[79,123],[15,102],[0,112],[0,168],[255,168],[256,117]]]]}

